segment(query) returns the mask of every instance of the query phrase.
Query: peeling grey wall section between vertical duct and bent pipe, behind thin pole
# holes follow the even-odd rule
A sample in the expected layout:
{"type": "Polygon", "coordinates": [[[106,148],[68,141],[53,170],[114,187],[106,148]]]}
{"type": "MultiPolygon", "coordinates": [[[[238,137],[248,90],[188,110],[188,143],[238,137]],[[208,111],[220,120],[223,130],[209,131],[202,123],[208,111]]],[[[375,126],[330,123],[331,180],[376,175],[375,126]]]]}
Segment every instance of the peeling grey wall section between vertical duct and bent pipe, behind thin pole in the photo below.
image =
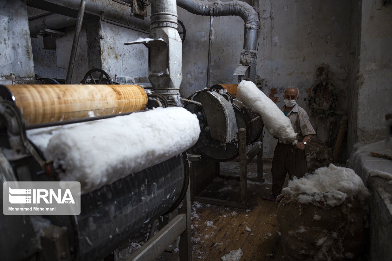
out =
{"type": "MultiPolygon", "coordinates": [[[[214,1],[209,1],[214,2],[214,1]]],[[[227,2],[227,1],[222,1],[227,2]]],[[[180,92],[183,97],[207,87],[207,61],[210,17],[191,14],[177,7],[178,19],[187,31],[182,45],[180,92]]],[[[236,84],[233,72],[240,62],[243,49],[244,22],[239,16],[213,18],[214,37],[211,51],[210,86],[218,83],[236,84]]]]}

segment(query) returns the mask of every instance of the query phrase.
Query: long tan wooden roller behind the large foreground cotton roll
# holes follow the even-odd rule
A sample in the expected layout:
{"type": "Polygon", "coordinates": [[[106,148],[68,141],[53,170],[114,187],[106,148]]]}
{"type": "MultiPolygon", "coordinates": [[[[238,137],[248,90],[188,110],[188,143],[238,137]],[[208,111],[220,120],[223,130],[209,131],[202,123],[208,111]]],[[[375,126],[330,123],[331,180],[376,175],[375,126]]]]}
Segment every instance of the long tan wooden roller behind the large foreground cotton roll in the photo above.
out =
{"type": "Polygon", "coordinates": [[[139,85],[5,85],[26,125],[141,111],[147,93],[139,85]]]}

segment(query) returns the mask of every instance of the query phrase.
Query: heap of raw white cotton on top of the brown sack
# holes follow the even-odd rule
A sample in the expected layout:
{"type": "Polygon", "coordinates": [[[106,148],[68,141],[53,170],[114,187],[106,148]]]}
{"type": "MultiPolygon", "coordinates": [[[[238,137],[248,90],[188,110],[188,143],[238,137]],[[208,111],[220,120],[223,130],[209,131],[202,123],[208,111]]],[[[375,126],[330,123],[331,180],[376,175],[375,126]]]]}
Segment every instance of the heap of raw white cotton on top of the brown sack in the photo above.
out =
{"type": "Polygon", "coordinates": [[[346,198],[365,199],[369,195],[354,170],[333,164],[316,169],[314,174],[301,179],[292,179],[282,193],[291,197],[297,194],[298,201],[303,204],[319,201],[330,206],[340,205],[346,198]]]}

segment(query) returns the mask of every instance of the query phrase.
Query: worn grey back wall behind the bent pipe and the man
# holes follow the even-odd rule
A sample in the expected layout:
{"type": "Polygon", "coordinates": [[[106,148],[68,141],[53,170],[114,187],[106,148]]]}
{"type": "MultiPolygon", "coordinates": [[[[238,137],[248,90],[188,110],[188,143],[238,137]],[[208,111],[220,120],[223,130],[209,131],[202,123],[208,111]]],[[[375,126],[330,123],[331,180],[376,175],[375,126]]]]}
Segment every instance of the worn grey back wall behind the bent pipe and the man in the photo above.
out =
{"type": "MultiPolygon", "coordinates": [[[[211,1],[212,2],[212,1],[211,1]]],[[[316,80],[316,65],[328,63],[330,78],[339,94],[338,110],[345,111],[349,54],[350,7],[346,1],[254,1],[260,13],[260,45],[257,71],[263,79],[263,92],[279,107],[287,85],[300,89],[299,105],[307,111],[306,99],[316,80]]],[[[187,29],[183,46],[181,94],[206,87],[209,17],[196,16],[178,7],[179,19],[187,29]]],[[[243,20],[239,17],[214,18],[211,84],[238,83],[232,72],[243,47],[243,20]]],[[[210,84],[210,85],[211,85],[210,84]]],[[[338,121],[339,118],[335,121],[338,121]]],[[[321,141],[330,130],[325,120],[311,117],[321,141]]],[[[338,124],[335,124],[335,127],[338,124]]],[[[276,140],[264,137],[264,156],[271,158],[276,140]]]]}

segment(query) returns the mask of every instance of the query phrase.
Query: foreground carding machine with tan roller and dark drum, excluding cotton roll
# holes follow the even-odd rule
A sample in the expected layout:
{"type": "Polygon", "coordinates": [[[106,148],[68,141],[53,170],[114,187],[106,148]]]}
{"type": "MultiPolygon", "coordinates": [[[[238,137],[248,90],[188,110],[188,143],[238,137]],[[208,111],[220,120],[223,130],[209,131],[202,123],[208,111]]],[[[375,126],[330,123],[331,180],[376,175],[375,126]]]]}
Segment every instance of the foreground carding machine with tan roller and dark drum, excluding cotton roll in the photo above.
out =
{"type": "MultiPolygon", "coordinates": [[[[53,163],[27,139],[26,130],[143,113],[157,104],[167,106],[161,95],[147,94],[138,85],[0,85],[0,97],[3,182],[60,180],[53,163]],[[89,117],[91,113],[98,116],[89,117]]],[[[184,152],[83,194],[80,215],[43,216],[45,222],[33,216],[2,215],[2,256],[4,260],[100,260],[178,207],[188,184],[189,163],[184,152]],[[51,226],[45,225],[41,234],[40,223],[51,226]]],[[[145,248],[162,252],[171,239],[190,231],[189,218],[179,214],[171,226],[176,232],[162,229],[164,240],[155,246],[148,241],[145,248]]],[[[142,259],[151,257],[134,260],[142,259]]]]}

